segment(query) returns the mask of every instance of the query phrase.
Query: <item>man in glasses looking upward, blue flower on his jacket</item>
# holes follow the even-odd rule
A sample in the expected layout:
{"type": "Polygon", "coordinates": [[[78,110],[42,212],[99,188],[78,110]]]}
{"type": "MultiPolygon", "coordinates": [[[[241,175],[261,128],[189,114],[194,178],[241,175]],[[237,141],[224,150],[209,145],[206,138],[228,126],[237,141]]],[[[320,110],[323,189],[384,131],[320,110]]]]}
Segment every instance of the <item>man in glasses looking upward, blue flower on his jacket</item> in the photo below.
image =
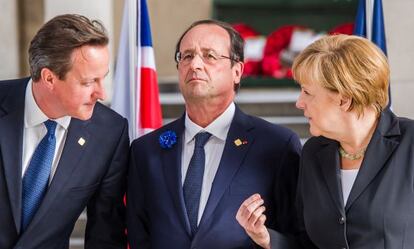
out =
{"type": "Polygon", "coordinates": [[[266,224],[292,232],[301,145],[292,131],[234,104],[240,35],[226,23],[195,22],[177,43],[176,61],[185,114],[131,148],[131,248],[251,248],[236,212],[253,193],[272,203],[266,224]]]}

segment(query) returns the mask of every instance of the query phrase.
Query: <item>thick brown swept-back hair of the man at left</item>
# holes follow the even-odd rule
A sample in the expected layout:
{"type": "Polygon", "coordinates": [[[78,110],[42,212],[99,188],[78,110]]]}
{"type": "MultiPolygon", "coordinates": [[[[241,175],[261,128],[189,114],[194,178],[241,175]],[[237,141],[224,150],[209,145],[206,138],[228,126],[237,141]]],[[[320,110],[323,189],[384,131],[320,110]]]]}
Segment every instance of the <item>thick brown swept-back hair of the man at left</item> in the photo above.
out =
{"type": "Polygon", "coordinates": [[[44,24],[30,42],[29,65],[34,81],[48,68],[64,79],[72,68],[72,52],[84,45],[106,46],[109,39],[101,22],[85,16],[59,15],[44,24]]]}

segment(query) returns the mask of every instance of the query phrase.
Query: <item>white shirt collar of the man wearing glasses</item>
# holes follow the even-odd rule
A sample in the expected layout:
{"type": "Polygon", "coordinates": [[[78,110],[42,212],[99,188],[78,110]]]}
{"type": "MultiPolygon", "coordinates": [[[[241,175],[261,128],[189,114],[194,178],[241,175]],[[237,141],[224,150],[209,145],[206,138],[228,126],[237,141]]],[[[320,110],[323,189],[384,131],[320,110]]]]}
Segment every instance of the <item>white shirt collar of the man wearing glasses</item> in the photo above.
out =
{"type": "Polygon", "coordinates": [[[188,113],[185,114],[185,143],[189,143],[197,133],[200,131],[206,131],[212,136],[217,137],[218,139],[225,141],[227,138],[227,133],[230,129],[230,124],[233,121],[234,113],[236,107],[233,102],[227,107],[227,109],[218,116],[211,124],[206,128],[203,128],[196,123],[194,123],[188,113]]]}

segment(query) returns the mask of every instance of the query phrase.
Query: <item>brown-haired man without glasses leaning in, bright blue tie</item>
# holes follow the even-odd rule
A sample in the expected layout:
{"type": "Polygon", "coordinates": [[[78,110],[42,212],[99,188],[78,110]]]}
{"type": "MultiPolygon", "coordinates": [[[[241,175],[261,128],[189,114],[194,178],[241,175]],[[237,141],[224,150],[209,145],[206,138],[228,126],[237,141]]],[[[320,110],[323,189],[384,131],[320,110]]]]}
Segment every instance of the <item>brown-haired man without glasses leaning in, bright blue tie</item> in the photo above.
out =
{"type": "Polygon", "coordinates": [[[105,97],[108,37],[79,15],[47,22],[31,78],[0,82],[0,248],[69,248],[87,207],[85,248],[125,248],[127,121],[105,97]]]}

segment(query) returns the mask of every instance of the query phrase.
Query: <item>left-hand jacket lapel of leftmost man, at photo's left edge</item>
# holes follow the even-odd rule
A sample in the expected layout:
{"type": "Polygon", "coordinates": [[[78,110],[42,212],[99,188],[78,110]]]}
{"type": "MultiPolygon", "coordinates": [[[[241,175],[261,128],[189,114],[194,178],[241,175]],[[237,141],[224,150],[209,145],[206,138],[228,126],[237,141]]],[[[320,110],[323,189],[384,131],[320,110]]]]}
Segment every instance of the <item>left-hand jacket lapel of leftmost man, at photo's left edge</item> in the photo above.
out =
{"type": "Polygon", "coordinates": [[[0,107],[0,151],[17,232],[21,219],[24,99],[28,80],[13,86],[0,107]]]}

